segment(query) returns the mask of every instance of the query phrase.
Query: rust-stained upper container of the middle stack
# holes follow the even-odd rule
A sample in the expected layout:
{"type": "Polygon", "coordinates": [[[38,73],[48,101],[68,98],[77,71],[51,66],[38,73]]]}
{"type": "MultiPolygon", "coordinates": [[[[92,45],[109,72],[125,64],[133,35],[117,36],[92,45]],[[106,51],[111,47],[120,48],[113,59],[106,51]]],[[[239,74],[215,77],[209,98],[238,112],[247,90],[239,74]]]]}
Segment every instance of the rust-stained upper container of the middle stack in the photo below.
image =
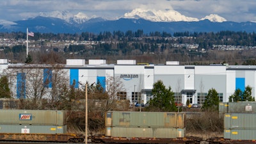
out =
{"type": "Polygon", "coordinates": [[[116,127],[184,127],[184,113],[109,111],[106,126],[116,127]]]}

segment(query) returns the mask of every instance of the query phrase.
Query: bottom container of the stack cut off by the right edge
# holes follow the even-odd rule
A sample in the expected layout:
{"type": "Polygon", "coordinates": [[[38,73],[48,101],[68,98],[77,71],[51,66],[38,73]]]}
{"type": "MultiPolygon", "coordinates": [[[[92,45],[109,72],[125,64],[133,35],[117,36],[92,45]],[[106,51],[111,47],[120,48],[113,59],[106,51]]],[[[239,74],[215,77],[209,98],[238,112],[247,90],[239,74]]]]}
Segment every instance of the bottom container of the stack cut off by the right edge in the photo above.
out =
{"type": "Polygon", "coordinates": [[[256,129],[224,129],[224,138],[231,140],[256,140],[256,129]]]}

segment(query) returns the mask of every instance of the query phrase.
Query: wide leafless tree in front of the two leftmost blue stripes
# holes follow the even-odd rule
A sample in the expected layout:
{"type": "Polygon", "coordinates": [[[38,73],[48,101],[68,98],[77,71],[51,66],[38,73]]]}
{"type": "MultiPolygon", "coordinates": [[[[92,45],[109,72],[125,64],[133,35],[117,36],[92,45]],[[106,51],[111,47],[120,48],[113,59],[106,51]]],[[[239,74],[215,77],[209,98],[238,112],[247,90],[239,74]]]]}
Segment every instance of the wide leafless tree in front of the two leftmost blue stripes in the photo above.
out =
{"type": "MultiPolygon", "coordinates": [[[[12,92],[17,91],[21,108],[70,109],[72,106],[74,95],[63,65],[22,65],[8,68],[6,76],[12,92]]],[[[15,97],[14,93],[11,95],[15,97]]]]}

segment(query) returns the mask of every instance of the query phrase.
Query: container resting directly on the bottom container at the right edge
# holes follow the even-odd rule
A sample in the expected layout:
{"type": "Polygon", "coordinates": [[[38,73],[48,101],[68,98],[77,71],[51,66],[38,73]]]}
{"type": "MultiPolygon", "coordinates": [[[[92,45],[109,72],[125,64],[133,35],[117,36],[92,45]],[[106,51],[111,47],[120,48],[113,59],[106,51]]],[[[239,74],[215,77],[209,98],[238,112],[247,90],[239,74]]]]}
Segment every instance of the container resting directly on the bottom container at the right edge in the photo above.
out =
{"type": "Polygon", "coordinates": [[[256,113],[226,113],[224,129],[256,129],[256,113]]]}

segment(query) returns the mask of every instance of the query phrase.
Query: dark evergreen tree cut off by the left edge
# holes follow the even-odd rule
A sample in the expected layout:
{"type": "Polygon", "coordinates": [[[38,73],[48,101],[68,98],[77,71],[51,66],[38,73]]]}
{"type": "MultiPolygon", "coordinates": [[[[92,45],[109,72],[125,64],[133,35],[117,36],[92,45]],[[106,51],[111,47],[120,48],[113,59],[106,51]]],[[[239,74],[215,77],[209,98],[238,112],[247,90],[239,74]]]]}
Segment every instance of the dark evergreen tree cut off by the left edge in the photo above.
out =
{"type": "Polygon", "coordinates": [[[10,98],[11,92],[9,88],[7,76],[0,78],[0,98],[10,98]]]}

